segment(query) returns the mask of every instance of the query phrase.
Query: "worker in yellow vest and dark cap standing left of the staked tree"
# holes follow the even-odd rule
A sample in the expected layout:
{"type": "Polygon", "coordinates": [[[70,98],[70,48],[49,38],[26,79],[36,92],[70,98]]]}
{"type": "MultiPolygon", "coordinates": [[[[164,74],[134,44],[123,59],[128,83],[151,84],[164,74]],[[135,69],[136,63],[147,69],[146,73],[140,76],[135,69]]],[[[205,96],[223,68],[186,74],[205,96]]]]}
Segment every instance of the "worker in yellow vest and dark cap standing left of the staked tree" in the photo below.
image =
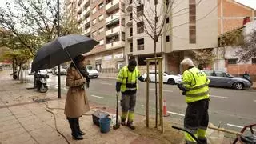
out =
{"type": "Polygon", "coordinates": [[[138,90],[137,79],[141,82],[144,82],[144,78],[141,76],[137,68],[137,62],[134,59],[131,59],[128,66],[122,67],[119,71],[116,91],[117,96],[122,92],[122,116],[121,124],[122,126],[128,126],[130,129],[134,130],[134,108],[136,104],[136,92],[138,90]],[[128,114],[128,121],[126,123],[126,118],[128,114]]]}

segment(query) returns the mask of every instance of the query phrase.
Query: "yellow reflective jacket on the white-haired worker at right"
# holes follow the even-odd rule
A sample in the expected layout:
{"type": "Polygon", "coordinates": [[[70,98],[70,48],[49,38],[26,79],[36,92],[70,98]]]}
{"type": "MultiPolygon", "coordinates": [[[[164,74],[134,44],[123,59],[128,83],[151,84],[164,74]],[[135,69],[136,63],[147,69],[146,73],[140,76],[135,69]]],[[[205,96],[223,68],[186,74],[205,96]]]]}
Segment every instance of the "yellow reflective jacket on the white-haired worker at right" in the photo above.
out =
{"type": "Polygon", "coordinates": [[[186,102],[196,102],[202,99],[209,98],[210,80],[206,77],[205,72],[193,67],[184,71],[182,74],[182,87],[186,91],[186,102]]]}

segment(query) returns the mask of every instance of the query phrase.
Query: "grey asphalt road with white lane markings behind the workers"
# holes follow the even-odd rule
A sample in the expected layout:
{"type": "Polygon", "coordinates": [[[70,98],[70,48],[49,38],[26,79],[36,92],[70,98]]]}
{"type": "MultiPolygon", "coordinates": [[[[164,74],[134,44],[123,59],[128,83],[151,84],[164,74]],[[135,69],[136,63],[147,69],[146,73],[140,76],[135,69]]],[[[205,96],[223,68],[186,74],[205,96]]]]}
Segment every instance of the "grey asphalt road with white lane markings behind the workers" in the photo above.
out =
{"type": "MultiPolygon", "coordinates": [[[[32,79],[30,76],[29,79],[32,79]]],[[[66,76],[62,76],[62,95],[66,94],[66,76]]],[[[91,102],[115,108],[115,80],[106,78],[91,79],[87,95],[91,102]]],[[[50,89],[57,89],[57,77],[50,74],[50,89]]],[[[167,102],[167,110],[171,118],[182,123],[186,111],[185,97],[177,86],[164,84],[163,98],[167,102]]],[[[146,114],[146,83],[138,82],[136,113],[146,114]]],[[[155,96],[154,83],[150,83],[150,115],[154,116],[155,96]]],[[[232,90],[210,87],[210,122],[229,130],[241,130],[242,126],[256,123],[256,91],[232,90]]]]}

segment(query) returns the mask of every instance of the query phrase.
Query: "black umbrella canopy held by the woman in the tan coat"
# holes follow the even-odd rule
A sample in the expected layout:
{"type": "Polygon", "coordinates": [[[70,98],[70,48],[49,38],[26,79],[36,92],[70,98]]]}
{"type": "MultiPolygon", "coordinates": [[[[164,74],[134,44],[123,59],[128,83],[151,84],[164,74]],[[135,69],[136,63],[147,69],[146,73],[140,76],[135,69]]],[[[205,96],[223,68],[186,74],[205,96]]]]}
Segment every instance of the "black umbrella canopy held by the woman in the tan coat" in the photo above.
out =
{"type": "Polygon", "coordinates": [[[80,54],[92,50],[98,42],[82,35],[70,34],[46,43],[38,50],[32,62],[31,72],[50,69],[68,62],[80,54]]]}

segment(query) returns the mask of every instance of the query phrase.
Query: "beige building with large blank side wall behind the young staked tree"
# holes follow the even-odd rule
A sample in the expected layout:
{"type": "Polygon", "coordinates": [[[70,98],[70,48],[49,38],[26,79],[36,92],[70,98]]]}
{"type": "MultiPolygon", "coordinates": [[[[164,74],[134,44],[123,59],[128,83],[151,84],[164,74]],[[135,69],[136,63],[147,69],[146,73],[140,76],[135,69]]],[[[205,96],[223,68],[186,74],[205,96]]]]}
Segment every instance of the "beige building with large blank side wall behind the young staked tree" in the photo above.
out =
{"type": "MultiPolygon", "coordinates": [[[[154,1],[126,1],[126,54],[133,55],[142,72],[146,70],[146,58],[154,57],[154,41],[143,30],[146,22],[138,22],[134,17],[141,17],[154,6],[154,1]]],[[[158,5],[164,2],[158,1],[158,5]]],[[[217,47],[218,11],[217,0],[183,0],[174,2],[169,16],[165,20],[162,35],[157,42],[157,55],[163,58],[163,68],[167,72],[180,73],[179,63],[183,58],[193,58],[200,54],[199,49],[217,47]]],[[[160,6],[158,6],[160,7],[160,6]]],[[[158,9],[161,14],[164,9],[158,9]]],[[[154,14],[148,15],[154,19],[154,14]]],[[[162,22],[162,19],[158,20],[162,22]]],[[[154,66],[151,66],[152,68],[154,66]]]]}

